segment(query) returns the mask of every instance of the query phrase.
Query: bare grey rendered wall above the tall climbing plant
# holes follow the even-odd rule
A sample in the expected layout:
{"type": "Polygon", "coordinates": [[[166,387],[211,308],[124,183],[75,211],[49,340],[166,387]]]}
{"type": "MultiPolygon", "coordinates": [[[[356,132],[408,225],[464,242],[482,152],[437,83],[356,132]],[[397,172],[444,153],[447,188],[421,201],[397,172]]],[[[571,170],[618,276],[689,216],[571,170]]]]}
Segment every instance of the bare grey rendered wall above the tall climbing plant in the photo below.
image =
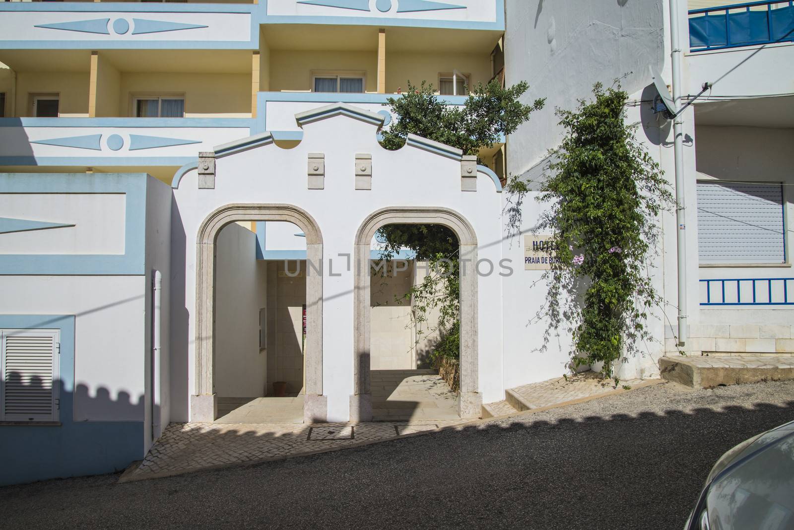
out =
{"type": "Polygon", "coordinates": [[[554,109],[572,109],[595,82],[622,80],[627,92],[651,83],[649,65],[661,70],[663,0],[507,0],[507,84],[530,83],[522,101],[547,98],[508,139],[507,171],[521,175],[561,139],[554,109]]]}

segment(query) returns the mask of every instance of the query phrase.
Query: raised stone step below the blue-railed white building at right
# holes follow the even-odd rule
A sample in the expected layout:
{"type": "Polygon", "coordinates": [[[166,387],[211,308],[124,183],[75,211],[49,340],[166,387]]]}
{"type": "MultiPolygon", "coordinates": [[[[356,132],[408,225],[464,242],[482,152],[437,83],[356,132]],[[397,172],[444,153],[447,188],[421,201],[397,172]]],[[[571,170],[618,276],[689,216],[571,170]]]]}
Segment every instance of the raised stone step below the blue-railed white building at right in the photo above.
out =
{"type": "Polygon", "coordinates": [[[661,377],[692,388],[794,379],[794,355],[673,355],[659,359],[661,377]]]}

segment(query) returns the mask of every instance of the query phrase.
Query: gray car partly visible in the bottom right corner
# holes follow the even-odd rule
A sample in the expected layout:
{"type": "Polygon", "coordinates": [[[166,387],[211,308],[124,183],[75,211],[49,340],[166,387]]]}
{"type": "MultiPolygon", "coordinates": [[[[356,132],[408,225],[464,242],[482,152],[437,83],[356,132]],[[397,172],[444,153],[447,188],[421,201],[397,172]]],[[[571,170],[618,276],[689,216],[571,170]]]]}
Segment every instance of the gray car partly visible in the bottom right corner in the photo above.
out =
{"type": "Polygon", "coordinates": [[[794,421],[727,451],[684,530],[794,530],[794,421]]]}

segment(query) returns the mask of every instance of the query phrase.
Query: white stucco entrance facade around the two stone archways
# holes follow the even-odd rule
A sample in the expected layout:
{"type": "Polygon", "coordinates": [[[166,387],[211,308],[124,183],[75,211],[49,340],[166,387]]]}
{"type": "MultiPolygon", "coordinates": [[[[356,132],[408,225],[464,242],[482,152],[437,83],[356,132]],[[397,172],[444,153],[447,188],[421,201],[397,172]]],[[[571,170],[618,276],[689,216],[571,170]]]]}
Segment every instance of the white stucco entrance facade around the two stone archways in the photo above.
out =
{"type": "MultiPolygon", "coordinates": [[[[461,213],[473,226],[480,242],[480,259],[500,259],[500,198],[494,182],[485,174],[477,178],[476,192],[461,191],[461,163],[420,148],[407,146],[388,152],[376,140],[376,127],[344,116],[329,117],[304,125],[303,141],[283,150],[270,144],[217,159],[216,187],[198,190],[195,171],[187,173],[175,190],[177,239],[183,248],[174,253],[175,282],[183,285],[187,317],[175,323],[186,363],[174,381],[175,389],[187,396],[195,393],[195,240],[206,216],[234,202],[287,203],[309,212],[322,232],[323,278],[323,389],[328,397],[328,419],[349,417],[353,393],[353,272],[346,271],[346,255],[353,253],[355,235],[364,220],[384,206],[444,206],[461,213]],[[344,131],[344,133],[340,133],[344,131]],[[308,190],[306,159],[309,152],[325,153],[325,189],[308,190]],[[356,153],[372,154],[372,190],[355,190],[353,162],[356,153]],[[251,171],[256,167],[256,171],[251,171]],[[183,236],[181,235],[183,234],[183,236]],[[183,239],[182,239],[183,238],[183,239]],[[331,275],[330,259],[333,259],[331,275]],[[337,276],[338,275],[338,276],[337,276]],[[186,326],[184,324],[187,324],[186,326]]],[[[175,244],[177,241],[175,240],[175,244]]],[[[484,401],[503,398],[502,338],[499,315],[501,282],[498,276],[479,278],[480,392],[484,401]]],[[[177,288],[181,291],[181,286],[177,288]]],[[[181,293],[180,293],[181,294],[181,293]]]]}

